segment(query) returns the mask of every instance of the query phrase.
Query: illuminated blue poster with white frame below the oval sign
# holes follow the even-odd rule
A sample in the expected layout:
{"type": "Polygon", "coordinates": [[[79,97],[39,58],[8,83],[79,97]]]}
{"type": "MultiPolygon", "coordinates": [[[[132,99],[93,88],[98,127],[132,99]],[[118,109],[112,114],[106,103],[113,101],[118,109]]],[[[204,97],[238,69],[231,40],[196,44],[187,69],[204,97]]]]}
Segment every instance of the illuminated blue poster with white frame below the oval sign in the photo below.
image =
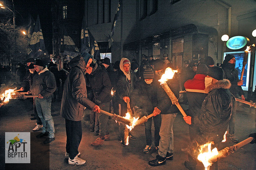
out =
{"type": "MultiPolygon", "coordinates": [[[[224,52],[224,59],[227,54],[232,54],[236,58],[235,68],[238,71],[238,77],[240,79],[242,68],[243,68],[244,51],[224,52]]],[[[248,91],[248,87],[249,87],[249,70],[248,70],[248,68],[250,68],[250,52],[248,54],[247,64],[245,65],[244,75],[243,75],[243,79],[242,79],[243,80],[242,89],[244,91],[248,91]]]]}

